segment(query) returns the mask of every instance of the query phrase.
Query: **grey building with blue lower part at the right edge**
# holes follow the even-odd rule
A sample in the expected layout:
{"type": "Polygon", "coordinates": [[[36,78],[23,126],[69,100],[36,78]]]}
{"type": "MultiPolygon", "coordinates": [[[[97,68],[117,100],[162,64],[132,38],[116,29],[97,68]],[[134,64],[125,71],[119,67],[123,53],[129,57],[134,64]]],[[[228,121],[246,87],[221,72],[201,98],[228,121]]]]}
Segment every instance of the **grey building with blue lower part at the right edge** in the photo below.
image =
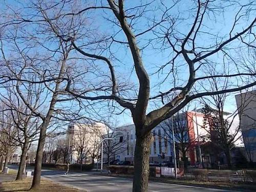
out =
{"type": "Polygon", "coordinates": [[[256,162],[256,91],[236,95],[247,160],[256,162]]]}

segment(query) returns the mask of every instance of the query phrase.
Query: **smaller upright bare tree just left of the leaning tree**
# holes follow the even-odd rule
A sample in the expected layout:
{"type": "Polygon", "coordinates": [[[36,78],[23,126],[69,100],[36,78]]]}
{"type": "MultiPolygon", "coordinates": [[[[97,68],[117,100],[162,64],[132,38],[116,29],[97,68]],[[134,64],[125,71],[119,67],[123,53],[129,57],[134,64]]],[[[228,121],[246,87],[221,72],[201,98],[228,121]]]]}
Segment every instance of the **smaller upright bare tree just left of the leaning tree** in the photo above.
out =
{"type": "MultiPolygon", "coordinates": [[[[36,141],[40,130],[40,119],[38,116],[34,116],[26,104],[23,103],[22,99],[15,92],[15,85],[10,85],[6,89],[5,95],[1,94],[2,102],[6,105],[6,110],[10,111],[12,122],[17,127],[17,135],[13,138],[22,147],[22,155],[20,157],[20,163],[16,180],[22,180],[28,148],[31,142],[36,141]]],[[[27,101],[31,103],[32,109],[36,110],[39,108],[38,100],[40,97],[40,90],[34,92],[31,87],[28,87],[28,92],[25,95],[27,101]]]]}

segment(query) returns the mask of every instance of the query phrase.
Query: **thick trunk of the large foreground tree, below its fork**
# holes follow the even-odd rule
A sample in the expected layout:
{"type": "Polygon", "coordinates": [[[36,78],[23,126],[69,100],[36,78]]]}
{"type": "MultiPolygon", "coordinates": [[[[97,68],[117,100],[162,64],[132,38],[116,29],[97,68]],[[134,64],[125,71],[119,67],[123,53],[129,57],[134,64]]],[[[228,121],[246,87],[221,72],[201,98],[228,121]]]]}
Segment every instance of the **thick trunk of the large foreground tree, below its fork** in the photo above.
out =
{"type": "Polygon", "coordinates": [[[150,170],[151,133],[136,139],[134,154],[133,192],[146,192],[150,170]]]}

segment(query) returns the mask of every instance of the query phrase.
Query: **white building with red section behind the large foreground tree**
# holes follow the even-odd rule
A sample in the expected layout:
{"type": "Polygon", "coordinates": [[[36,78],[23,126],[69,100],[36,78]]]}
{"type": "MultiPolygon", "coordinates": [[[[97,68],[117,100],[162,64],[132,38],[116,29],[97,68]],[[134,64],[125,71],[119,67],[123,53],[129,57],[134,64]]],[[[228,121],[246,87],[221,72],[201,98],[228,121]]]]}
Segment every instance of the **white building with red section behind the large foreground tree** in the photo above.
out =
{"type": "MultiPolygon", "coordinates": [[[[186,158],[190,165],[195,165],[199,159],[197,153],[198,138],[201,142],[200,135],[206,134],[203,129],[203,114],[191,112],[185,112],[178,115],[179,117],[174,118],[174,132],[176,135],[183,135],[184,143],[189,143],[188,149],[186,149],[186,158]],[[181,129],[179,129],[182,127],[181,129]],[[183,132],[183,133],[181,133],[183,132]],[[199,136],[199,137],[198,137],[199,136]]],[[[116,132],[122,133],[123,140],[126,143],[126,150],[117,155],[115,159],[121,161],[134,160],[134,151],[136,143],[135,125],[126,125],[118,127],[116,132]]],[[[173,147],[173,136],[172,136],[172,119],[168,119],[164,123],[159,124],[152,130],[154,142],[151,143],[150,150],[150,162],[163,162],[174,160],[174,147],[173,147]]],[[[175,138],[177,138],[175,136],[175,138]]],[[[181,160],[181,151],[178,150],[181,140],[176,139],[176,158],[181,160]]]]}

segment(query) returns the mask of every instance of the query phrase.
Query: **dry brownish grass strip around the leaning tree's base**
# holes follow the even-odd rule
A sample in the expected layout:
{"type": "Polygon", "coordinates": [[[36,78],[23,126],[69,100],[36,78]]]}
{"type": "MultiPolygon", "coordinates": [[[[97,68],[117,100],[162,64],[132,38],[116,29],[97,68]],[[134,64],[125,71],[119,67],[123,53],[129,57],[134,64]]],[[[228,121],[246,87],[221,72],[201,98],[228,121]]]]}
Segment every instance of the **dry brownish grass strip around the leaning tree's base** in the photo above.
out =
{"type": "Polygon", "coordinates": [[[0,191],[34,191],[34,192],[54,192],[54,191],[63,191],[63,192],[76,192],[82,191],[76,188],[68,187],[58,183],[51,182],[49,180],[41,179],[41,187],[39,190],[29,190],[31,186],[32,179],[26,178],[22,181],[7,181],[0,183],[0,191]]]}

